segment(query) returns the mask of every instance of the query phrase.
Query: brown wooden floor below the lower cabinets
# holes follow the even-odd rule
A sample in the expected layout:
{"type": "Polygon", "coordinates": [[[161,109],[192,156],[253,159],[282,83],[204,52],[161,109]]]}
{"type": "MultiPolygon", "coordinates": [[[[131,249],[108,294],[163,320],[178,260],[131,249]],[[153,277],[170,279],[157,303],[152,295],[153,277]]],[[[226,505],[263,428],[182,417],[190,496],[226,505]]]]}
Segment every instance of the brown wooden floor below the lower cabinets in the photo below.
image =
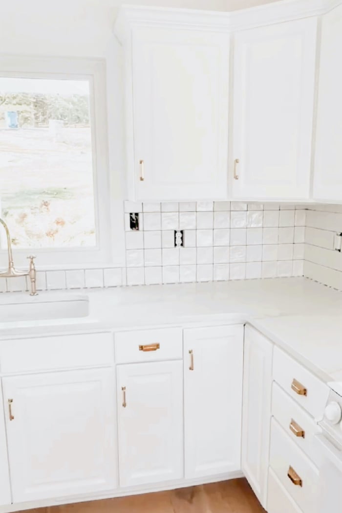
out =
{"type": "Polygon", "coordinates": [[[155,494],[31,510],[30,513],[265,513],[245,479],[155,494]]]}

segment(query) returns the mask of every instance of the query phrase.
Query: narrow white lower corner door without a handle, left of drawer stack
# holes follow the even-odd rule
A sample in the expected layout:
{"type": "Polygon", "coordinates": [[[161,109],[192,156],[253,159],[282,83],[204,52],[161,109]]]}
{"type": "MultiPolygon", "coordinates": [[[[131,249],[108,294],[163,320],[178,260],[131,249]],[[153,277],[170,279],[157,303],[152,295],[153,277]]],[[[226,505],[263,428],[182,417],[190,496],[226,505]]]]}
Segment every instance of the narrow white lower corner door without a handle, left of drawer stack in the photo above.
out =
{"type": "Polygon", "coordinates": [[[242,430],[242,469],[266,508],[270,445],[273,344],[246,326],[242,430]]]}

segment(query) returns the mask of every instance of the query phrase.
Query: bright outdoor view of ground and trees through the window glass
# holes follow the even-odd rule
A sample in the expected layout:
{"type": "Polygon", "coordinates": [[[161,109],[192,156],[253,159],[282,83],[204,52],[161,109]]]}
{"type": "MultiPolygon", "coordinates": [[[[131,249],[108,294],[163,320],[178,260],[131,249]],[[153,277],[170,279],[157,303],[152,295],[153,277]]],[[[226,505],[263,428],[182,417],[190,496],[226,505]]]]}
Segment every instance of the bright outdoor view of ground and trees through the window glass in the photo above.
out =
{"type": "Polygon", "coordinates": [[[88,82],[0,77],[0,209],[14,247],[96,244],[88,82]]]}

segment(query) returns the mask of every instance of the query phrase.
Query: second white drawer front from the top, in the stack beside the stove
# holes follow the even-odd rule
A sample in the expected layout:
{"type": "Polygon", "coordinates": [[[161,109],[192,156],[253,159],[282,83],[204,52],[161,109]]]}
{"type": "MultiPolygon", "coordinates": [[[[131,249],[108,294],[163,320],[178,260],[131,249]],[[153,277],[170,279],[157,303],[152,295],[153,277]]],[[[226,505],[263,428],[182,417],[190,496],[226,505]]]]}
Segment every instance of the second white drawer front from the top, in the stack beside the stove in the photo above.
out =
{"type": "Polygon", "coordinates": [[[320,457],[314,443],[314,436],[320,432],[320,428],[313,418],[275,382],[272,388],[272,415],[293,442],[319,466],[320,457]]]}

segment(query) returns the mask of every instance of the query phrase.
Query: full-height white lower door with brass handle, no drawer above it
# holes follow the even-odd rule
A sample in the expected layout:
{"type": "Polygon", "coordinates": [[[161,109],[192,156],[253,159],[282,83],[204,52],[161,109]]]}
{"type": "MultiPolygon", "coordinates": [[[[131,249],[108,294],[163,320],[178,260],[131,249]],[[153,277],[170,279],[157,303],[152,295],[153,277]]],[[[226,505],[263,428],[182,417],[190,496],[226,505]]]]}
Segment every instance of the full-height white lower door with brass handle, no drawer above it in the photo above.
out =
{"type": "Polygon", "coordinates": [[[185,477],[240,470],[244,327],[184,330],[185,477]]]}

